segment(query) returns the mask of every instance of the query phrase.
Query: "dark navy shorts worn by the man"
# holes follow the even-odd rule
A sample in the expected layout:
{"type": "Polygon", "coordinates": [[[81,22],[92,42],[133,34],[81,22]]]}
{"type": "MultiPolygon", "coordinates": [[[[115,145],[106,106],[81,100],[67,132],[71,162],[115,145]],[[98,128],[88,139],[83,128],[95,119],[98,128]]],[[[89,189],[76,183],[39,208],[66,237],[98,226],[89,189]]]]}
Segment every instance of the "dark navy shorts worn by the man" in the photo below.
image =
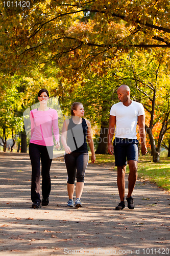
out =
{"type": "Polygon", "coordinates": [[[113,141],[116,166],[127,165],[127,160],[138,161],[138,140],[115,138],[113,141]]]}

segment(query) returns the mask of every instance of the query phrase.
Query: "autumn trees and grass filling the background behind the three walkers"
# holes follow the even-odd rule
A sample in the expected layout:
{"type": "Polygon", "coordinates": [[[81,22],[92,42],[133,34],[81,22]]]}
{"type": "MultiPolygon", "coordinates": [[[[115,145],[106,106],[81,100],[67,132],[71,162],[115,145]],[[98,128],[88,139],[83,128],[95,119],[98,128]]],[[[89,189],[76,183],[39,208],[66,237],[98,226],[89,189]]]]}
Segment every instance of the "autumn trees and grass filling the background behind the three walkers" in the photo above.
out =
{"type": "MultiPolygon", "coordinates": [[[[96,163],[107,154],[117,88],[145,109],[148,156],[139,176],[169,191],[169,1],[5,1],[0,4],[1,151],[26,153],[23,112],[45,88],[63,116],[82,102],[96,163]]],[[[140,148],[139,148],[140,150],[140,148]]]]}

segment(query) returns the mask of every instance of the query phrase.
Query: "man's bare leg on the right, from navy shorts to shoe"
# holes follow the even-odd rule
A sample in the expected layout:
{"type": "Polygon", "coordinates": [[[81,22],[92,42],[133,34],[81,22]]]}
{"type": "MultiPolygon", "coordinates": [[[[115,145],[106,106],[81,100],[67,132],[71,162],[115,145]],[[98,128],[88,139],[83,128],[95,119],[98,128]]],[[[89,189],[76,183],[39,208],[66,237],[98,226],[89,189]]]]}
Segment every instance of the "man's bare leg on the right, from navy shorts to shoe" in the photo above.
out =
{"type": "Polygon", "coordinates": [[[129,198],[132,196],[132,192],[137,180],[137,161],[129,160],[128,164],[129,164],[129,178],[128,178],[129,184],[128,184],[127,197],[129,198]]]}

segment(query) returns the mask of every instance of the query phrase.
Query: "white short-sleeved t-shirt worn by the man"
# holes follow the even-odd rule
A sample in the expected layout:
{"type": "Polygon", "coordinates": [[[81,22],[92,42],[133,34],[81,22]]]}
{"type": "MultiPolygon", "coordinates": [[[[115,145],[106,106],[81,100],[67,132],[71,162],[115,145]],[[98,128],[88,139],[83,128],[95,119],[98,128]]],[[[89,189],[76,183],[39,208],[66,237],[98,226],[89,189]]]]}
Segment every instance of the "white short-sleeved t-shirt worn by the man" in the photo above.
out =
{"type": "Polygon", "coordinates": [[[122,102],[112,105],[110,115],[116,117],[115,137],[137,139],[136,125],[138,116],[144,115],[143,105],[132,101],[129,106],[122,102]]]}

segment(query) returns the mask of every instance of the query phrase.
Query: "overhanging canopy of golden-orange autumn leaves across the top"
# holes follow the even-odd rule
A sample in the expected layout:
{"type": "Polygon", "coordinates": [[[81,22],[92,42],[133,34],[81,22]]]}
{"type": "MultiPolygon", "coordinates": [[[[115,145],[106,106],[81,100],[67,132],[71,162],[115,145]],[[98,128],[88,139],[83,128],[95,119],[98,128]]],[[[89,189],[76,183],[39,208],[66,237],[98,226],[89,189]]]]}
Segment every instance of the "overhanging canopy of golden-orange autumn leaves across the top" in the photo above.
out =
{"type": "Polygon", "coordinates": [[[13,56],[14,70],[32,60],[60,68],[67,62],[77,71],[133,47],[169,48],[169,9],[164,0],[46,0],[13,9],[1,3],[1,62],[13,56]]]}

